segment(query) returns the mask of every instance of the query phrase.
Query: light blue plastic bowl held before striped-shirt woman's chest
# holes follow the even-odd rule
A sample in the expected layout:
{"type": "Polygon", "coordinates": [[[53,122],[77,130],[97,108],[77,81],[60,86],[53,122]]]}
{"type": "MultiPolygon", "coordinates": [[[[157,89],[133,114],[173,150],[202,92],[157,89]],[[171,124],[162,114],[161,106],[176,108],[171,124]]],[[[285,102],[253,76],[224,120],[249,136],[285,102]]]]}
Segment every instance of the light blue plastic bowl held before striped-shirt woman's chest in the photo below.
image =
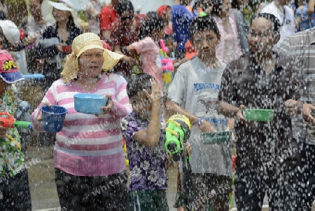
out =
{"type": "Polygon", "coordinates": [[[74,95],[74,109],[83,114],[101,114],[101,107],[106,107],[107,97],[94,94],[74,95]]]}

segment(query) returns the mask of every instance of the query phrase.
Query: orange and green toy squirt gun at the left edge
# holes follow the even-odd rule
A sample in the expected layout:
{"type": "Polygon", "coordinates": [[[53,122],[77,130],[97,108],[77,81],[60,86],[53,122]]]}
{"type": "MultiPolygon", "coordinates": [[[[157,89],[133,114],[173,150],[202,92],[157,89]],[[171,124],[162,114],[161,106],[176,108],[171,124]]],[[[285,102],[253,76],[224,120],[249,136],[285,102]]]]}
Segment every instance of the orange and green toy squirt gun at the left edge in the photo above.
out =
{"type": "MultiPolygon", "coordinates": [[[[31,122],[15,121],[14,118],[12,118],[12,116],[8,112],[0,112],[0,126],[4,128],[24,128],[33,130],[31,122]]],[[[11,137],[8,134],[6,134],[6,137],[8,137],[8,139],[14,142],[18,149],[21,150],[20,144],[15,139],[13,139],[13,137],[11,137]]]]}

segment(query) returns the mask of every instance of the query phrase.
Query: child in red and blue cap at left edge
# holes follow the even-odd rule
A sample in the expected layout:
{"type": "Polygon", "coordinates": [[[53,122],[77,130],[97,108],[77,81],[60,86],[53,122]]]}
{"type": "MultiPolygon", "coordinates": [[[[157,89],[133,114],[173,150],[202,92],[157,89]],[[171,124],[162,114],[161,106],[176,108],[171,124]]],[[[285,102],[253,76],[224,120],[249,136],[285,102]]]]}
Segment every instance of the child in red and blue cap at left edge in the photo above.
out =
{"type": "MultiPolygon", "coordinates": [[[[0,67],[0,112],[8,112],[15,118],[18,90],[13,83],[23,78],[13,57],[6,50],[0,50],[0,67]]],[[[0,210],[31,211],[25,156],[21,150],[18,130],[0,124],[0,192],[3,194],[0,210]]]]}

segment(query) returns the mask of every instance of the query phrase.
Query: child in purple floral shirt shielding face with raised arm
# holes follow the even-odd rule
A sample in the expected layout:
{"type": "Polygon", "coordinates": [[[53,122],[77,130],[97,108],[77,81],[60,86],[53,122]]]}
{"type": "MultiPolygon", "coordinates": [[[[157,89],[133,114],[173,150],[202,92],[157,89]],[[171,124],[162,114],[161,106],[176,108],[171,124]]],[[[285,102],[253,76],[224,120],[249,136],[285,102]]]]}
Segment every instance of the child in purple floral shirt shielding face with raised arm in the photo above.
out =
{"type": "Polygon", "coordinates": [[[158,83],[149,74],[136,74],[127,84],[127,95],[134,109],[121,121],[131,172],[127,210],[169,210],[158,83]]]}

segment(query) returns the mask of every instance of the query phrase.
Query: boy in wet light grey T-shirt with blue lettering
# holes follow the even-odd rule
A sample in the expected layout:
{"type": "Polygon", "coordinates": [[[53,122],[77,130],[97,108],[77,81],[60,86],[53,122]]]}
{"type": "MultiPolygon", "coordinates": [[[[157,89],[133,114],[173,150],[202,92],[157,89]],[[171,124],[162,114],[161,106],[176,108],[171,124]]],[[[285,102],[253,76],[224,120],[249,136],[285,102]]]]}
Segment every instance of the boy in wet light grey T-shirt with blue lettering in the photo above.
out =
{"type": "Polygon", "coordinates": [[[182,64],[169,86],[167,112],[183,114],[190,119],[189,142],[195,207],[197,210],[229,210],[232,188],[232,144],[202,144],[201,132],[227,130],[225,117],[216,111],[221,76],[226,64],[216,58],[221,41],[216,22],[207,15],[193,20],[189,29],[190,42],[198,55],[182,64]],[[211,201],[210,201],[211,200],[211,201]]]}

